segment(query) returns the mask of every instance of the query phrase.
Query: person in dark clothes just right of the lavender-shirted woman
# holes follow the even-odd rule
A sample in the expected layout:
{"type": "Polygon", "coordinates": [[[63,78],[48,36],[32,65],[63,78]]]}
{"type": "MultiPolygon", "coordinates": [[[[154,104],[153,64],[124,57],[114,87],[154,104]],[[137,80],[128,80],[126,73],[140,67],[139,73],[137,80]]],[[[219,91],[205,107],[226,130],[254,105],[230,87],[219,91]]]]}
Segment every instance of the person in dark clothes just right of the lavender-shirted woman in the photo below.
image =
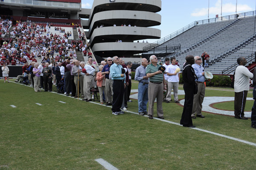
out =
{"type": "Polygon", "coordinates": [[[49,63],[45,64],[43,69],[44,74],[44,92],[52,92],[52,68],[49,67],[49,63]],[[48,88],[49,87],[49,88],[48,88]]]}

